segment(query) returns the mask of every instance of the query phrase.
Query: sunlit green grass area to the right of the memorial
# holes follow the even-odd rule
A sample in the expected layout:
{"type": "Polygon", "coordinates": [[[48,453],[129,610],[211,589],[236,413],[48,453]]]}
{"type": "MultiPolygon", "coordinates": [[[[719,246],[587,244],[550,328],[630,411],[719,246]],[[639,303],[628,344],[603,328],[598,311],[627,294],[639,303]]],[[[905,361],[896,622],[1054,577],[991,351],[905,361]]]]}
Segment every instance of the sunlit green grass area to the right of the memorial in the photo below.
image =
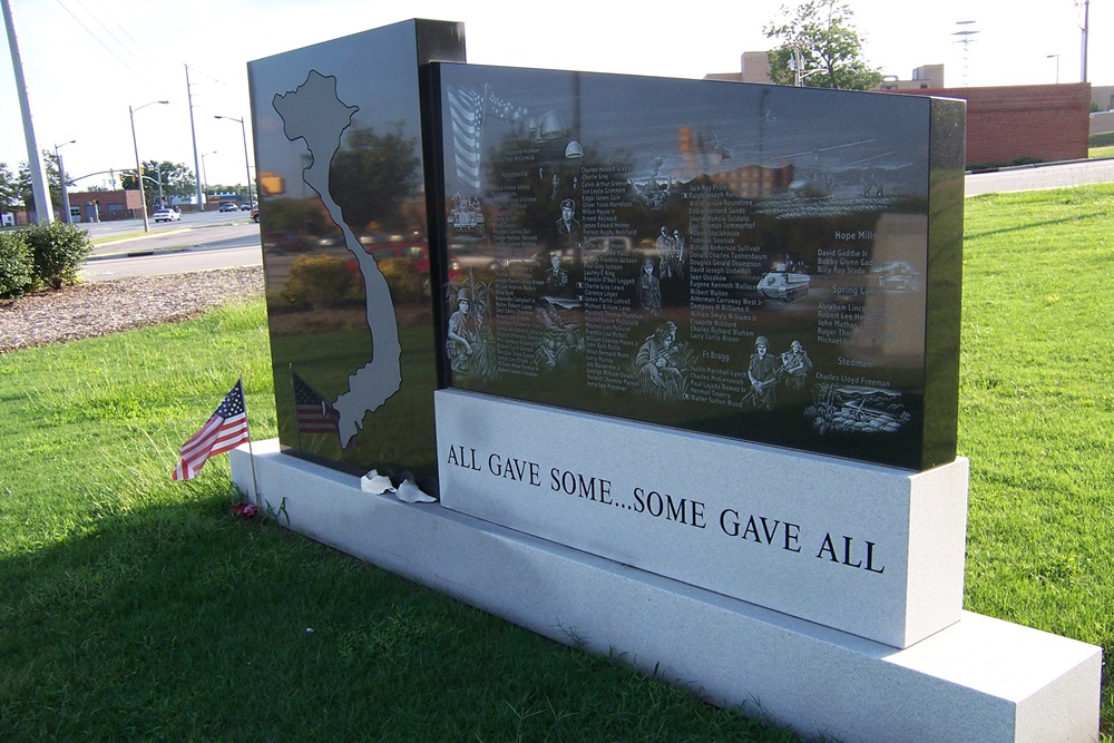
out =
{"type": "MultiPolygon", "coordinates": [[[[966,607],[1114,651],[1114,185],[967,199],[966,607]]],[[[1114,688],[1103,685],[1103,730],[1114,688]]]]}

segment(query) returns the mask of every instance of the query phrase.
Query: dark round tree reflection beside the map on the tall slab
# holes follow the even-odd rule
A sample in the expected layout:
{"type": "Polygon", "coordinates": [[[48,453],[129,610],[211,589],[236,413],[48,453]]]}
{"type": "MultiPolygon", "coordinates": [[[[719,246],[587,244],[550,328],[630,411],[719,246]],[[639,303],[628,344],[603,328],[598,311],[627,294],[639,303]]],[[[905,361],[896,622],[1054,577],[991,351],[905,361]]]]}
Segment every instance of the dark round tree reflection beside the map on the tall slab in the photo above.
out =
{"type": "MultiPolygon", "coordinates": [[[[343,147],[333,156],[329,192],[341,206],[344,221],[362,232],[378,223],[383,231],[405,231],[405,205],[421,186],[418,141],[402,136],[402,125],[377,134],[371,128],[353,128],[343,147]]],[[[417,225],[424,232],[423,224],[417,225]]]]}

